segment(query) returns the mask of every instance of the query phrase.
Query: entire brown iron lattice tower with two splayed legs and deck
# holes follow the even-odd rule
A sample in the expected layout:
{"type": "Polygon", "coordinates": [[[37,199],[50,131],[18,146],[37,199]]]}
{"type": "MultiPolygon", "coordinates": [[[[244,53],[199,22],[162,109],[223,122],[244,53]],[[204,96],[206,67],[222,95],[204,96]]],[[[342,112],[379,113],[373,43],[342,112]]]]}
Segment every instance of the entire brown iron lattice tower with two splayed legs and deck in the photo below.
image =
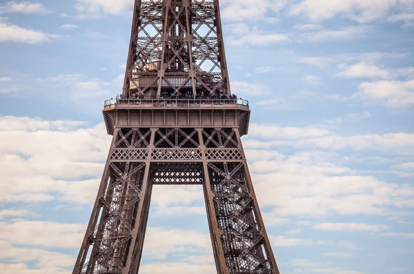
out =
{"type": "MultiPolygon", "coordinates": [[[[239,104],[239,102],[241,102],[239,104]]],[[[74,274],[137,274],[154,184],[200,184],[218,274],[279,274],[230,93],[218,0],[135,0],[124,89],[74,274]]]]}

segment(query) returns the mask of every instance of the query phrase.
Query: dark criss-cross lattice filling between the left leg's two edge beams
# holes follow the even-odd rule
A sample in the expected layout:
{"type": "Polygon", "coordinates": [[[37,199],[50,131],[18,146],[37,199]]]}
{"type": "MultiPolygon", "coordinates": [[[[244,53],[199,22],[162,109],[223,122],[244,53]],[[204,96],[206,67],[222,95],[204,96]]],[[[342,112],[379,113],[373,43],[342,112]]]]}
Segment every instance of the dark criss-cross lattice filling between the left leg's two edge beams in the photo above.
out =
{"type": "MultiPolygon", "coordinates": [[[[83,274],[121,273],[126,265],[139,203],[145,163],[110,163],[101,199],[81,253],[83,274]],[[88,252],[92,248],[90,257],[88,252]],[[86,261],[88,260],[88,261],[86,261]]],[[[88,233],[88,232],[87,232],[88,233]]],[[[79,273],[79,272],[78,272],[79,273]]]]}

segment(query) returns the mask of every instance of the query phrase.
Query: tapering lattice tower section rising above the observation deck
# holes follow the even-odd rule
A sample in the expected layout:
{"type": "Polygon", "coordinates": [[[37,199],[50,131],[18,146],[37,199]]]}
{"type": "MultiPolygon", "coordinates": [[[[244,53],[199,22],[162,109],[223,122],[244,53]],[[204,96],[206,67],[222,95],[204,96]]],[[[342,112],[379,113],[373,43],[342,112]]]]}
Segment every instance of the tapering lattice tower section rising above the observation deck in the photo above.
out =
{"type": "Polygon", "coordinates": [[[161,88],[175,94],[230,94],[218,5],[136,0],[124,94],[132,90],[147,97],[154,86],[158,95],[161,88]]]}

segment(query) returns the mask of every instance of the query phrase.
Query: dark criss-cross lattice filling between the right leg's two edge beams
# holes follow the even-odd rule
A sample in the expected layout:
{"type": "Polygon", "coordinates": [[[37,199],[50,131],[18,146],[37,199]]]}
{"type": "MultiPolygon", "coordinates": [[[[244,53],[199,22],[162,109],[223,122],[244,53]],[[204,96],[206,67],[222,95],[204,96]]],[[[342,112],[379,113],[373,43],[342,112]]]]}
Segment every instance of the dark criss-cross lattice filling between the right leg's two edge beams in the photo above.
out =
{"type": "Polygon", "coordinates": [[[208,163],[208,173],[229,273],[275,273],[244,164],[208,163]]]}

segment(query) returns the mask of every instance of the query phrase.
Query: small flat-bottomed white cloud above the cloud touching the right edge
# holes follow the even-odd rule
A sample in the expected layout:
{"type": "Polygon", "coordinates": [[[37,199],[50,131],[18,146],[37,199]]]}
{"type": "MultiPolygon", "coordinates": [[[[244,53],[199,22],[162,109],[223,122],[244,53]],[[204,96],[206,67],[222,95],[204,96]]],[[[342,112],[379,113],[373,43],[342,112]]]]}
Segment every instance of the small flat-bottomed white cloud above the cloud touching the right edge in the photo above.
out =
{"type": "Polygon", "coordinates": [[[387,79],[390,73],[375,65],[364,61],[355,63],[353,66],[347,67],[335,75],[343,78],[382,78],[387,79]]]}

